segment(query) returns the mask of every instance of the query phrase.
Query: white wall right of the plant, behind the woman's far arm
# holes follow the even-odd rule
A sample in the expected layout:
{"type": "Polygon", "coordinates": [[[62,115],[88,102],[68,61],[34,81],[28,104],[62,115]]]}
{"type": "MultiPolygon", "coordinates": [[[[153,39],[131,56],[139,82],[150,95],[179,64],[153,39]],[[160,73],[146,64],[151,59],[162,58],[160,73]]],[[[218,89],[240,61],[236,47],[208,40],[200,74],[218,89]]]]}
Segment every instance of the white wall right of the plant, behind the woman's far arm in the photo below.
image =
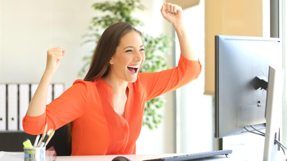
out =
{"type": "MultiPolygon", "coordinates": [[[[136,27],[138,30],[148,33],[152,36],[159,36],[161,33],[167,34],[172,37],[172,25],[166,21],[160,12],[162,3],[164,0],[153,1],[144,0],[142,3],[149,7],[149,10],[144,13],[136,11],[133,13],[134,17],[139,17],[145,22],[144,27],[136,27]]],[[[166,56],[167,65],[172,68],[175,67],[173,48],[166,56]]],[[[158,126],[158,129],[152,131],[143,126],[141,133],[137,140],[137,154],[161,154],[161,153],[175,153],[175,91],[166,93],[160,97],[166,100],[163,108],[159,110],[159,113],[163,116],[162,123],[158,126]]]]}

